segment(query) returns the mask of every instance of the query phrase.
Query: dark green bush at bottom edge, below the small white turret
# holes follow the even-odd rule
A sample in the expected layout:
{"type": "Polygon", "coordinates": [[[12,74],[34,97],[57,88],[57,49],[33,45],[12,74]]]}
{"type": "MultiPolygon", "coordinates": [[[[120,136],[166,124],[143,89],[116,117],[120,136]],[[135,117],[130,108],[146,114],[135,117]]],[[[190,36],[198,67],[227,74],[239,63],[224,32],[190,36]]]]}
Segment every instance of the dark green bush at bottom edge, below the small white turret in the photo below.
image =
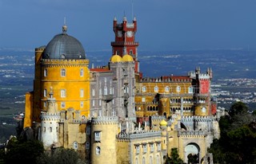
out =
{"type": "Polygon", "coordinates": [[[80,161],[78,153],[73,149],[64,149],[59,148],[51,153],[42,154],[38,158],[37,164],[70,164],[70,163],[78,163],[80,161]]]}

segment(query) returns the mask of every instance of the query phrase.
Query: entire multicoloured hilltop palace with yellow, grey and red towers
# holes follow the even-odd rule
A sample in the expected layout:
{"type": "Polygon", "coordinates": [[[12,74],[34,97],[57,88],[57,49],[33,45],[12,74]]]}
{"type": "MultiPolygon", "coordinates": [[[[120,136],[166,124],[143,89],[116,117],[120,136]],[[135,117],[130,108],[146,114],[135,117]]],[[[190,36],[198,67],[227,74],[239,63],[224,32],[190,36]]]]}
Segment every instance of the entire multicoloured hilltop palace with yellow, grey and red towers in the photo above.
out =
{"type": "Polygon", "coordinates": [[[114,18],[110,61],[89,68],[67,26],[35,49],[34,90],[26,93],[24,130],[46,150],[76,150],[87,163],[165,163],[172,148],[184,162],[212,163],[218,139],[211,68],[145,78],[135,41],[137,20],[114,18]]]}

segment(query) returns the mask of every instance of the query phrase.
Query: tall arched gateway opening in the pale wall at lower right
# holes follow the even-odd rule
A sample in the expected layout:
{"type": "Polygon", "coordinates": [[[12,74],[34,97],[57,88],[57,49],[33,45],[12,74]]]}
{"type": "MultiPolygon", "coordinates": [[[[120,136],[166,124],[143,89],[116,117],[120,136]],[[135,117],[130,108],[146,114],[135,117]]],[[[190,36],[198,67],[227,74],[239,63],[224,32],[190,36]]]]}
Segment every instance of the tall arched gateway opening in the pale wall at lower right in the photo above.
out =
{"type": "Polygon", "coordinates": [[[185,147],[186,163],[196,164],[199,163],[200,147],[196,143],[189,143],[185,147]]]}

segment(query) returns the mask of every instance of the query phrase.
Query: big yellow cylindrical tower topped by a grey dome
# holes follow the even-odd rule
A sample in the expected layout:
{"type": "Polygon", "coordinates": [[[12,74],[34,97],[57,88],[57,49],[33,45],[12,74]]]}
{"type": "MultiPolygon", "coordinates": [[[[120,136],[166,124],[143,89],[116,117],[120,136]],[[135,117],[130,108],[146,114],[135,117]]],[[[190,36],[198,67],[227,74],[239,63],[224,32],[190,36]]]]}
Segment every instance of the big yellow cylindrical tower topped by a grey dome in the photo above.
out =
{"type": "Polygon", "coordinates": [[[55,35],[46,47],[35,49],[34,92],[26,94],[24,127],[40,122],[50,88],[58,110],[73,107],[83,118],[90,114],[89,60],[82,44],[68,35],[66,29],[63,25],[62,33],[55,35]]]}

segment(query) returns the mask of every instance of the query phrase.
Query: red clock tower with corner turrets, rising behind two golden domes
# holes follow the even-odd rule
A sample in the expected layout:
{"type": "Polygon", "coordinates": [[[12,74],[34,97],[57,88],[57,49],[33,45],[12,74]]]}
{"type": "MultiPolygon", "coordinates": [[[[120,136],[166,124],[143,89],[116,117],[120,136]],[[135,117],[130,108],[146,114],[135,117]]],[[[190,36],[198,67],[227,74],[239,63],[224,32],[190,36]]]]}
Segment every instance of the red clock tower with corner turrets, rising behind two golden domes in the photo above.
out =
{"type": "Polygon", "coordinates": [[[135,42],[135,33],[137,31],[137,21],[134,18],[132,23],[127,22],[126,16],[123,17],[122,23],[118,23],[117,18],[114,18],[113,30],[115,41],[111,42],[112,55],[116,53],[122,57],[129,54],[135,61],[135,73],[139,73],[138,61],[138,42],[135,42]]]}

